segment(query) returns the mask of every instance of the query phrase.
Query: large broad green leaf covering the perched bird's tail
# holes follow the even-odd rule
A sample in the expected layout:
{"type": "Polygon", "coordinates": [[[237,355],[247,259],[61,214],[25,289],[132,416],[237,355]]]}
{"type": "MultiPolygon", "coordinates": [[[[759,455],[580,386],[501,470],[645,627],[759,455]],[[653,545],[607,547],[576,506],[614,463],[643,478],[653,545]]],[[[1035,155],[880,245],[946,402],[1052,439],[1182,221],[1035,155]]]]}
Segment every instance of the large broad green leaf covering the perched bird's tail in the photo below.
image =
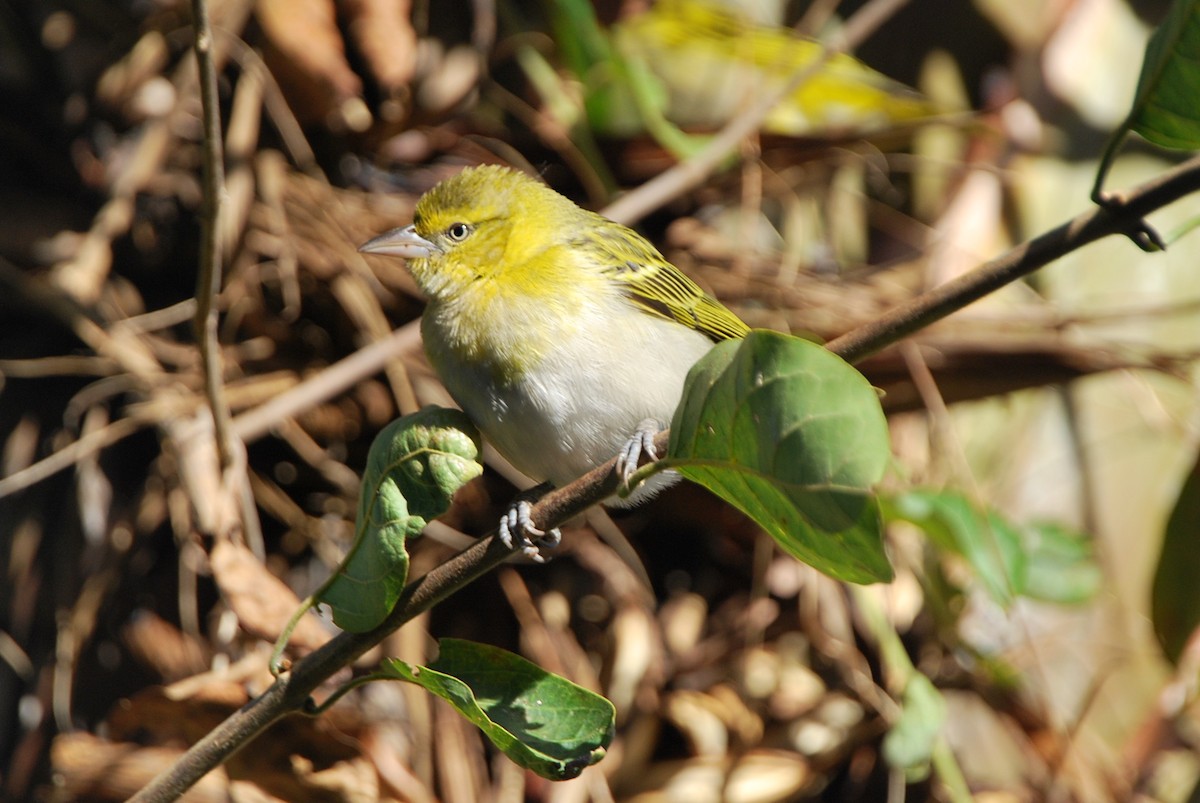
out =
{"type": "Polygon", "coordinates": [[[870,489],[890,460],[875,389],[824,348],[756,330],[688,374],[670,460],[790,555],[851,582],[892,579],[870,489]]]}

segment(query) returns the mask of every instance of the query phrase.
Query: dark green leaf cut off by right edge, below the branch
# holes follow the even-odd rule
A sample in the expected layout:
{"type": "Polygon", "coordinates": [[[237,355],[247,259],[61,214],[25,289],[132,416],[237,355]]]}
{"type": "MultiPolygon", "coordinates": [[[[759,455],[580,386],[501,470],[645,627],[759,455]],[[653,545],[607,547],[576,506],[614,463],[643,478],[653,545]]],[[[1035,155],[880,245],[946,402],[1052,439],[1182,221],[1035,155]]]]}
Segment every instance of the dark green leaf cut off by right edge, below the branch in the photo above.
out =
{"type": "Polygon", "coordinates": [[[1166,521],[1154,570],[1151,619],[1163,653],[1177,663],[1192,633],[1200,627],[1200,456],[1183,480],[1166,521]]]}

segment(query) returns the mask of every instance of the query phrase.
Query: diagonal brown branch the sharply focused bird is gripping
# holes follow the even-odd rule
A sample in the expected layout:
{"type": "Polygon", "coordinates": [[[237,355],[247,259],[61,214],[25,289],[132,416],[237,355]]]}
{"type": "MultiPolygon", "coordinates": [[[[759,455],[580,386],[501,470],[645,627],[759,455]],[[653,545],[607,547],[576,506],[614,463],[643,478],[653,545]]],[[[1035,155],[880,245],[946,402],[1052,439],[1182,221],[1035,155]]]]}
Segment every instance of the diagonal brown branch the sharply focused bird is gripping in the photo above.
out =
{"type": "MultiPolygon", "coordinates": [[[[829,349],[851,362],[862,359],[1088,242],[1110,234],[1144,230],[1144,217],[1147,214],[1195,190],[1200,190],[1200,158],[1186,162],[1124,197],[1111,199],[1104,208],[1084,212],[970,274],[896,307],[875,323],[842,335],[829,343],[829,349]]],[[[666,454],[667,438],[666,432],[660,432],[655,438],[660,454],[666,454]]],[[[617,489],[614,463],[616,460],[611,460],[570,485],[547,493],[533,507],[534,521],[544,527],[562,523],[611,496],[617,489]]],[[[290,672],[281,676],[259,697],[197,742],[174,766],[132,799],[138,803],[175,799],[205,773],[248,744],[268,725],[302,709],[308,695],[334,672],[414,616],[509,557],[511,552],[494,535],[490,535],[413,581],[383,624],[370,633],[343,633],[299,660],[290,672]]]]}

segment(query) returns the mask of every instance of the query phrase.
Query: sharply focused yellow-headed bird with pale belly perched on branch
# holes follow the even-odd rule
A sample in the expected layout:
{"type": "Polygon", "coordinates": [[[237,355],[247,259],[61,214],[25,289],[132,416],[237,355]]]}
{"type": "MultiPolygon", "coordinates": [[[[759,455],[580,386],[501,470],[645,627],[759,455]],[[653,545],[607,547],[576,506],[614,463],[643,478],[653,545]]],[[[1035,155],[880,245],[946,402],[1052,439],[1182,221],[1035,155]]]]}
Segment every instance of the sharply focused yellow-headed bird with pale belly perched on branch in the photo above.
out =
{"type": "MultiPolygon", "coordinates": [[[[412,223],[359,247],[403,257],[426,295],[421,337],[455,402],[526,475],[560,487],[613,456],[622,483],[670,425],[691,366],[750,329],[646,238],[505,166],[468,167],[412,223]]],[[[653,475],[610,507],[677,481],[653,475]]],[[[528,499],[498,535],[535,561],[557,529],[528,499]]]]}

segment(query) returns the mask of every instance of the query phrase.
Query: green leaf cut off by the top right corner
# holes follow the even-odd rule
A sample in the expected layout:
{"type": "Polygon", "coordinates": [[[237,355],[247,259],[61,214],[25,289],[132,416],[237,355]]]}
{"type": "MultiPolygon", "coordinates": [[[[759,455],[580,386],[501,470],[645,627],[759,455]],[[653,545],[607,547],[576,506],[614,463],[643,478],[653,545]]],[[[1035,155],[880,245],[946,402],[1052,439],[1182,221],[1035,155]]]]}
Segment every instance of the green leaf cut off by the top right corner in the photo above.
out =
{"type": "Polygon", "coordinates": [[[1200,1],[1175,0],[1146,44],[1128,127],[1162,148],[1200,148],[1200,1]]]}

